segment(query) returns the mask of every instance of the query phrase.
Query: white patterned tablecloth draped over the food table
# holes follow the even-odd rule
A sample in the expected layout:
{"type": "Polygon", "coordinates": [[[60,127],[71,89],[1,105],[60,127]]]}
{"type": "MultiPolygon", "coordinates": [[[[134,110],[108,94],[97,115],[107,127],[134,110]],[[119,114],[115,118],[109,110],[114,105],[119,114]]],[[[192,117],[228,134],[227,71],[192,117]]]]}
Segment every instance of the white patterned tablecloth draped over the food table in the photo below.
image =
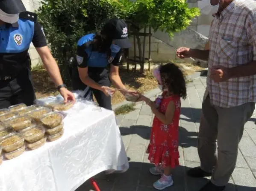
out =
{"type": "Polygon", "coordinates": [[[0,191],[74,191],[94,175],[129,168],[115,114],[86,108],[64,119],[62,138],[3,161],[0,191]]]}

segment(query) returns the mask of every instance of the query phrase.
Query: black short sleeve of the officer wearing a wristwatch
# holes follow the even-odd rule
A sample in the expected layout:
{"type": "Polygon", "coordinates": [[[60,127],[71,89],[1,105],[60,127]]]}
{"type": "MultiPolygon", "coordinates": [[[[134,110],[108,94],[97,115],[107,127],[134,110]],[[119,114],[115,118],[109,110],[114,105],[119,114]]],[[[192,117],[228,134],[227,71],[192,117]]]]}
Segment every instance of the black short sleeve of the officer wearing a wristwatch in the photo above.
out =
{"type": "Polygon", "coordinates": [[[35,46],[35,48],[41,48],[41,47],[47,46],[43,27],[38,22],[35,22],[34,27],[35,29],[34,29],[34,36],[32,39],[32,43],[35,46]]]}

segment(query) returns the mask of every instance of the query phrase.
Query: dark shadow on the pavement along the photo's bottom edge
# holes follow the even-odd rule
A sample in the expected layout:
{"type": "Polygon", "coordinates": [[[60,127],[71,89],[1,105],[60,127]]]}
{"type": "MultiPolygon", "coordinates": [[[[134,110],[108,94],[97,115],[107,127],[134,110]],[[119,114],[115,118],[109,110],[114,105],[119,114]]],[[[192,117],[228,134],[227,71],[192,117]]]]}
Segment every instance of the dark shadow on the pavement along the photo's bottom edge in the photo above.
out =
{"type": "MultiPolygon", "coordinates": [[[[94,180],[100,187],[100,191],[155,191],[152,188],[153,182],[160,176],[150,174],[149,168],[152,164],[146,162],[129,162],[129,169],[123,174],[109,174],[104,172],[96,175],[94,180]]],[[[180,165],[173,171],[174,185],[166,188],[165,191],[199,191],[209,179],[192,178],[186,175],[190,168],[180,165]]],[[[93,190],[89,181],[86,181],[76,191],[93,190]]],[[[255,191],[255,188],[242,185],[228,184],[225,191],[255,191]]]]}

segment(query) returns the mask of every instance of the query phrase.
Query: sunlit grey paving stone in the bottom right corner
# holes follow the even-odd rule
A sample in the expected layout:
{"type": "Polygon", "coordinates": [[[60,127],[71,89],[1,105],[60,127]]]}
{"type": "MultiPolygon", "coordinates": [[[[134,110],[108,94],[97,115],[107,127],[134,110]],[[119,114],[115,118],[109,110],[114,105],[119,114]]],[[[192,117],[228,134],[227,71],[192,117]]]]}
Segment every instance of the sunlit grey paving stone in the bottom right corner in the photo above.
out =
{"type": "Polygon", "coordinates": [[[232,174],[233,180],[237,185],[237,191],[255,191],[256,179],[250,169],[235,168],[232,174]]]}

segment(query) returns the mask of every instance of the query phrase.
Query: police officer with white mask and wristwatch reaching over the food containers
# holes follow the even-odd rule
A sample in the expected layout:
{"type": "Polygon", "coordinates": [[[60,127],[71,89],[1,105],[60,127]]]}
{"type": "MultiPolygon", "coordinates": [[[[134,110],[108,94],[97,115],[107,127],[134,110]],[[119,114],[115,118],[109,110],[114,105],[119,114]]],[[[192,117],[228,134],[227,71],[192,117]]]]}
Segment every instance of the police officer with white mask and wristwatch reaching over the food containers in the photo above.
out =
{"type": "Polygon", "coordinates": [[[65,102],[74,101],[74,95],[62,82],[37,15],[26,11],[21,0],[0,0],[0,108],[18,103],[32,105],[35,100],[29,70],[31,42],[65,102]]]}

